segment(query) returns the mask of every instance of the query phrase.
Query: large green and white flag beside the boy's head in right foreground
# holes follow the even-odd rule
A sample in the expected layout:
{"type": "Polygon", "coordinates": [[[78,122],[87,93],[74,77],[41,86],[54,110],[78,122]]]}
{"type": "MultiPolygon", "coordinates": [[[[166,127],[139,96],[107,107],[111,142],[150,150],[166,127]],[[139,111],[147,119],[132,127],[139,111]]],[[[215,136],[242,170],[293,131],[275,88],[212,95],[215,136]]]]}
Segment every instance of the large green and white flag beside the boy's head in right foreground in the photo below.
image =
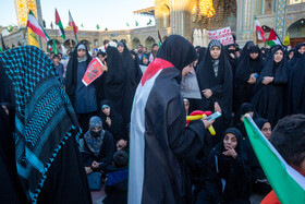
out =
{"type": "Polygon", "coordinates": [[[282,204],[304,203],[305,178],[286,164],[248,115],[244,123],[257,159],[279,201],[282,204]]]}

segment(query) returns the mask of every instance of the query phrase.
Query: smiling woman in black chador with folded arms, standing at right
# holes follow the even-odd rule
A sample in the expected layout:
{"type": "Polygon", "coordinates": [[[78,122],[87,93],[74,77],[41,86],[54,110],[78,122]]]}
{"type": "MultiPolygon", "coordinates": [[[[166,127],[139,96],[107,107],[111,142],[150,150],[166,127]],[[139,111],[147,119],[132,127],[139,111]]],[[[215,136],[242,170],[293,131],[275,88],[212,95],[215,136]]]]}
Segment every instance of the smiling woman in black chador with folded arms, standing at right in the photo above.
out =
{"type": "Polygon", "coordinates": [[[288,83],[284,49],[277,47],[266,62],[254,87],[252,104],[258,113],[274,127],[284,117],[284,97],[288,83]]]}

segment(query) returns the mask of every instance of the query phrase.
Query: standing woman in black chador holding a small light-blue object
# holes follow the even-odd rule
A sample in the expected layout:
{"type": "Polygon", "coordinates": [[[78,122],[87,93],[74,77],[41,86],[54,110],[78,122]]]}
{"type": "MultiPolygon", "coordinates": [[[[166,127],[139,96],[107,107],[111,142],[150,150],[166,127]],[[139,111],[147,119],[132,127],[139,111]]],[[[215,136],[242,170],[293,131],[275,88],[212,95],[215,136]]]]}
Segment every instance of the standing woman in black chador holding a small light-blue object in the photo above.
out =
{"type": "Polygon", "coordinates": [[[264,67],[258,46],[252,46],[246,51],[247,53],[239,64],[234,77],[235,98],[233,106],[235,112],[242,104],[251,101],[253,96],[252,89],[264,67]]]}

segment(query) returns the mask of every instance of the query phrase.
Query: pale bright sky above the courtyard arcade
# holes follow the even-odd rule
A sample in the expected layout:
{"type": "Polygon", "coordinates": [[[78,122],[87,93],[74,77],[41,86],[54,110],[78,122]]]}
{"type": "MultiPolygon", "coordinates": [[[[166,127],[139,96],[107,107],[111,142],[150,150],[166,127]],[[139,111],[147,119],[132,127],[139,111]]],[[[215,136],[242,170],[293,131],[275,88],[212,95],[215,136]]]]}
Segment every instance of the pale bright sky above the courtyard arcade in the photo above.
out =
{"type": "MultiPolygon", "coordinates": [[[[56,8],[64,27],[69,23],[69,10],[80,29],[97,31],[97,24],[101,31],[106,27],[109,31],[129,29],[136,27],[135,21],[138,27],[145,27],[149,19],[155,25],[152,17],[133,14],[133,11],[154,7],[155,0],[40,0],[40,3],[47,27],[50,27],[51,21],[54,25],[56,8]],[[84,27],[81,27],[82,24],[84,27]]],[[[0,25],[16,25],[14,0],[0,0],[0,25]]]]}

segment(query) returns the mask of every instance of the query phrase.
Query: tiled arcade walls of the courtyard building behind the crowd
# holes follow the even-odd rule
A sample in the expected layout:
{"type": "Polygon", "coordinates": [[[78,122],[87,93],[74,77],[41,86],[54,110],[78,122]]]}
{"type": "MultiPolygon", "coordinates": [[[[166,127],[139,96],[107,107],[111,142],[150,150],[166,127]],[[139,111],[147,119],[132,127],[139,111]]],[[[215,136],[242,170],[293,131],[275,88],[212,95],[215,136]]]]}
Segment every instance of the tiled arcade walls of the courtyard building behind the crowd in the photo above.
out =
{"type": "MultiPolygon", "coordinates": [[[[16,7],[21,2],[24,1],[15,0],[16,7]]],[[[162,38],[171,34],[179,34],[192,41],[193,32],[196,28],[196,25],[192,22],[192,9],[196,2],[194,0],[155,0],[156,26],[124,31],[78,31],[78,40],[87,40],[90,50],[103,46],[105,40],[120,41],[122,39],[126,41],[130,49],[135,48],[137,44],[142,44],[150,49],[149,46],[152,43],[158,43],[159,31],[162,38]],[[98,41],[98,45],[95,44],[95,40],[98,41]]],[[[254,15],[257,16],[261,26],[273,27],[279,32],[281,38],[283,38],[288,29],[291,29],[293,37],[302,37],[304,28],[291,28],[290,26],[301,19],[305,19],[305,2],[297,4],[290,4],[290,1],[285,0],[272,0],[271,2],[272,8],[270,14],[265,14],[266,0],[236,0],[235,28],[232,29],[235,29],[235,36],[241,46],[247,40],[256,40],[254,15]]],[[[22,15],[20,14],[20,16],[22,15]]],[[[231,20],[228,21],[234,27],[234,22],[231,20]]],[[[213,27],[221,26],[213,25],[213,27]]],[[[56,38],[60,44],[64,43],[58,36],[58,31],[46,31],[51,39],[56,38]]],[[[75,40],[72,29],[65,29],[65,35],[66,39],[75,40]]],[[[266,35],[268,37],[268,34],[266,35]]],[[[27,35],[24,27],[14,29],[13,33],[3,37],[3,39],[10,48],[12,45],[27,45],[27,35]]],[[[46,43],[42,43],[42,49],[47,50],[46,43]]]]}

